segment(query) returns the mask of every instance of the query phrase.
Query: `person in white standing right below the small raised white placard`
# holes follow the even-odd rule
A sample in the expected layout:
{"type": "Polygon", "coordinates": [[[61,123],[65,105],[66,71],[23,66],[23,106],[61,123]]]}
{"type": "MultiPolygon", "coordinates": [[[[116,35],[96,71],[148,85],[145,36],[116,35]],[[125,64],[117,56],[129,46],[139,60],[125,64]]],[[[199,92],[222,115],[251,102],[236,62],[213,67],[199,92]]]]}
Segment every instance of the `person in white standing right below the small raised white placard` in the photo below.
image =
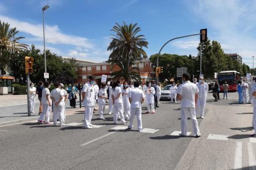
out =
{"type": "Polygon", "coordinates": [[[105,105],[106,105],[106,99],[108,98],[108,94],[106,92],[106,84],[101,84],[101,88],[99,91],[99,99],[98,99],[98,104],[99,104],[99,116],[100,119],[106,120],[104,118],[104,111],[105,111],[105,105]]]}

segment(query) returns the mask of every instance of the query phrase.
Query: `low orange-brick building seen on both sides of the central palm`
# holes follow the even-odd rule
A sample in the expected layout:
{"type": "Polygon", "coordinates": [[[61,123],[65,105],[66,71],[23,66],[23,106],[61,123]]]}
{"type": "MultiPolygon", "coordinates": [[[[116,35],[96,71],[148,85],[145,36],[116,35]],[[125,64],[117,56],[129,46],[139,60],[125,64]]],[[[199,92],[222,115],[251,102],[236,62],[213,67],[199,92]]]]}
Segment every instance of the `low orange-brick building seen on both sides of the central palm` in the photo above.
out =
{"type": "MultiPolygon", "coordinates": [[[[80,62],[80,60],[78,60],[78,62],[80,62]]],[[[151,79],[155,78],[155,71],[153,68],[151,68],[149,59],[136,62],[135,66],[139,67],[140,69],[140,77],[142,78],[142,82],[150,81],[151,79]]],[[[96,79],[101,79],[101,75],[107,75],[108,79],[111,79],[111,73],[118,70],[120,70],[120,68],[117,65],[111,70],[111,63],[108,62],[85,62],[77,68],[79,78],[76,80],[76,83],[83,83],[84,81],[87,81],[88,76],[90,75],[95,76],[96,79]]]]}

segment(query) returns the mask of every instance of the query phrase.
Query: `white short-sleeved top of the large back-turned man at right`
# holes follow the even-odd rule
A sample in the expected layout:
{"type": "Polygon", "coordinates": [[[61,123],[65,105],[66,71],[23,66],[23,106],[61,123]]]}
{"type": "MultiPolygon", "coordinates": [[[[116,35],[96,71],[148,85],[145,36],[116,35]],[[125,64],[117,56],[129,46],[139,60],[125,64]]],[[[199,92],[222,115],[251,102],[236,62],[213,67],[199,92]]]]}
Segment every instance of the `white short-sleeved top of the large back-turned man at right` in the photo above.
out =
{"type": "Polygon", "coordinates": [[[197,85],[185,81],[178,92],[181,94],[181,107],[195,107],[195,94],[199,92],[197,85]]]}

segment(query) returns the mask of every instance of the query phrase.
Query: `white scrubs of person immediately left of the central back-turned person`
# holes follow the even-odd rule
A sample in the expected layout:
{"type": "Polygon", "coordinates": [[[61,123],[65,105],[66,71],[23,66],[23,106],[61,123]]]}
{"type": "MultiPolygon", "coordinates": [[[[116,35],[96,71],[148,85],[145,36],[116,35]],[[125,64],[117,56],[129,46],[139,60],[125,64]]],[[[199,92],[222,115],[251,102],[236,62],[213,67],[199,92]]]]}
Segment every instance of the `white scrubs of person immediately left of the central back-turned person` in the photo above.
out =
{"type": "Polygon", "coordinates": [[[113,105],[113,118],[114,124],[117,124],[117,116],[120,116],[122,124],[126,124],[126,120],[124,119],[124,108],[122,105],[122,89],[121,87],[115,87],[112,89],[112,95],[114,97],[114,105],[113,105]],[[116,99],[117,95],[120,94],[120,97],[116,99]]]}

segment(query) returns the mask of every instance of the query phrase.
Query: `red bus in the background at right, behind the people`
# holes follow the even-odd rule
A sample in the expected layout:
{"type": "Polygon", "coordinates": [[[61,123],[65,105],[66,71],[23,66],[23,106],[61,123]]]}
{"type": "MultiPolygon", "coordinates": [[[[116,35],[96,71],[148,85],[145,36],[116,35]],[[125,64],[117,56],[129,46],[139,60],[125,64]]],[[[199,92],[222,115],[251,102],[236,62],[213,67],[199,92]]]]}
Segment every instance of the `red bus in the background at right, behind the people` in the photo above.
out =
{"type": "Polygon", "coordinates": [[[223,92],[222,85],[226,81],[228,83],[228,91],[237,91],[237,81],[241,80],[241,74],[237,71],[221,71],[218,73],[218,81],[220,83],[220,91],[223,92]]]}

